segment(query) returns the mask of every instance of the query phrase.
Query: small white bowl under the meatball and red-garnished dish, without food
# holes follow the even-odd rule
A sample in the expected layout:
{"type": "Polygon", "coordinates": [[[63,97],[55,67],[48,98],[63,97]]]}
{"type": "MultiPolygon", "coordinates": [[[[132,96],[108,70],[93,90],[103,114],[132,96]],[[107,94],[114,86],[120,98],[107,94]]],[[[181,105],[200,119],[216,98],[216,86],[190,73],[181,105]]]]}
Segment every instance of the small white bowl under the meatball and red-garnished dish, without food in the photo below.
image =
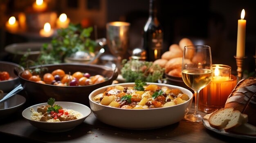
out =
{"type": "Polygon", "coordinates": [[[88,106],[85,106],[80,103],[74,103],[74,102],[55,102],[54,104],[58,104],[66,109],[72,109],[75,111],[78,111],[83,114],[83,118],[71,120],[71,121],[62,121],[62,122],[42,122],[42,121],[34,121],[31,119],[31,111],[30,108],[36,108],[38,106],[45,106],[47,103],[40,103],[36,104],[34,106],[30,106],[23,110],[22,116],[31,123],[31,125],[34,125],[39,130],[45,131],[45,132],[66,132],[69,130],[74,129],[77,125],[83,123],[83,121],[90,115],[91,110],[88,106]]]}

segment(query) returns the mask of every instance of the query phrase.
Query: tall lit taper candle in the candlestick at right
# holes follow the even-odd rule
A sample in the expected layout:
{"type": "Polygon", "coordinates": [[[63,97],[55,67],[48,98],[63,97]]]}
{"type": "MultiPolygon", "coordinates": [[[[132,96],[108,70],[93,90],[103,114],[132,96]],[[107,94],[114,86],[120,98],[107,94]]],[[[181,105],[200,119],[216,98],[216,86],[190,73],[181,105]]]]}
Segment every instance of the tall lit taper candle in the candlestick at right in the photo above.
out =
{"type": "Polygon", "coordinates": [[[242,10],[241,19],[238,20],[236,57],[245,57],[246,20],[244,20],[244,18],[245,18],[245,9],[242,10]]]}

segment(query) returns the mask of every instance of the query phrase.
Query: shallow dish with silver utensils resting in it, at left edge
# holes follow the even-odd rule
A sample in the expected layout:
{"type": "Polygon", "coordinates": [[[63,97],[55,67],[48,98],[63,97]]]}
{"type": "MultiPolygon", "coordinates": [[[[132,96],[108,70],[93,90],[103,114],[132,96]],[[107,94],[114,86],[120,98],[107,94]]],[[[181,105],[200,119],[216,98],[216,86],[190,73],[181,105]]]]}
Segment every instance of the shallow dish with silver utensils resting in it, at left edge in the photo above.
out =
{"type": "MultiPolygon", "coordinates": [[[[7,95],[7,93],[4,93],[4,96],[5,95],[7,95]]],[[[9,115],[16,112],[25,102],[25,97],[16,94],[3,103],[0,103],[0,119],[8,117],[9,115]]]]}

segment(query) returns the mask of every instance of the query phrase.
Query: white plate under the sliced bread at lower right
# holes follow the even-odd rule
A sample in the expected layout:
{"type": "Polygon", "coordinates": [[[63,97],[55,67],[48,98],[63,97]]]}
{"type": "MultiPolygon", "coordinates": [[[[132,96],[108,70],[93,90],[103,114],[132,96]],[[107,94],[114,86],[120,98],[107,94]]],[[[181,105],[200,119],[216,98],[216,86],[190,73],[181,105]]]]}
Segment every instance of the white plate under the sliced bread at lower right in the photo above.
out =
{"type": "Polygon", "coordinates": [[[234,133],[231,133],[231,132],[226,132],[224,129],[217,130],[215,128],[212,128],[211,125],[209,124],[209,121],[205,120],[205,119],[203,119],[203,124],[204,124],[205,128],[207,128],[207,129],[209,129],[213,132],[216,132],[218,134],[222,134],[222,135],[225,135],[225,136],[231,136],[231,137],[235,137],[235,138],[240,138],[240,139],[256,140],[256,136],[247,136],[247,135],[242,135],[242,134],[234,134],[234,133]]]}

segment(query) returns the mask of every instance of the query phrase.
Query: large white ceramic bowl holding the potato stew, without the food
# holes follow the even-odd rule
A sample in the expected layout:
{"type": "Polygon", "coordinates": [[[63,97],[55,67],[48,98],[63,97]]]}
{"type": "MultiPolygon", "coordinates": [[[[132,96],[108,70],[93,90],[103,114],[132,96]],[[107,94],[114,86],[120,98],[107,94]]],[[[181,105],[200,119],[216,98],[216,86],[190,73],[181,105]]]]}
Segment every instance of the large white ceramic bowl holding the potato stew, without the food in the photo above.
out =
{"type": "Polygon", "coordinates": [[[96,89],[89,95],[89,102],[92,112],[97,119],[108,125],[112,125],[118,128],[126,129],[153,129],[161,128],[166,125],[177,123],[184,118],[191,107],[193,94],[191,91],[180,86],[172,86],[168,84],[147,83],[155,84],[160,87],[167,86],[170,89],[180,89],[183,93],[189,96],[189,100],[171,107],[165,108],[153,108],[153,109],[121,109],[113,108],[110,106],[104,106],[93,101],[93,97],[103,93],[108,87],[114,87],[117,85],[130,87],[135,86],[134,83],[122,83],[114,84],[110,86],[104,86],[96,89]]]}

